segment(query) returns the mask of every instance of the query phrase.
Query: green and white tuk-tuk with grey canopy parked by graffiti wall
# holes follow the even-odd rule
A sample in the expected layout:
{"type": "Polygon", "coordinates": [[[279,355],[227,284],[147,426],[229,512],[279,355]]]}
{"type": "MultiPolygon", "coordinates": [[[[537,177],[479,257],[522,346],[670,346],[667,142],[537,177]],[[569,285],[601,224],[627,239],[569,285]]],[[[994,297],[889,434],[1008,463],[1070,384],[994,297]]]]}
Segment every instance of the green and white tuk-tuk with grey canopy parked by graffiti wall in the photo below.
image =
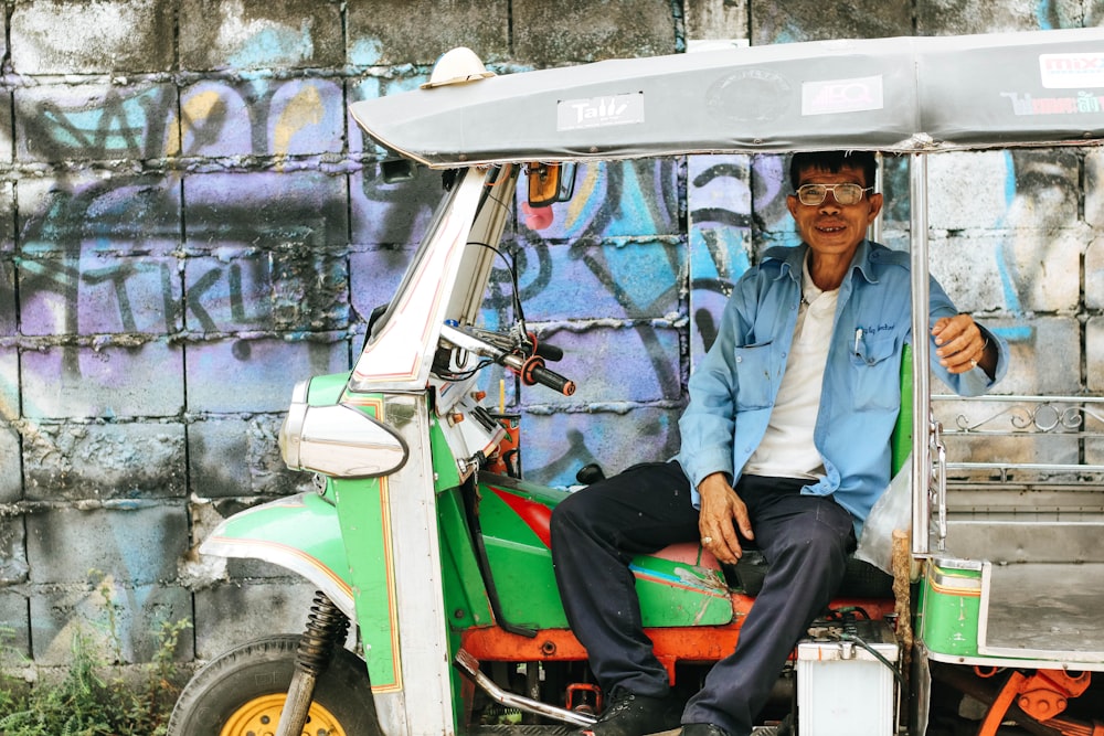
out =
{"type": "MultiPolygon", "coordinates": [[[[571,489],[526,480],[521,462],[527,446],[562,439],[526,435],[496,391],[510,378],[570,396],[587,376],[550,367],[561,351],[526,321],[516,277],[512,319],[484,309],[492,274],[514,273],[502,238],[519,212],[564,206],[576,168],[597,162],[904,157],[913,334],[926,334],[928,160],[1101,146],[1104,30],[795,43],[507,75],[461,49],[422,88],[351,114],[388,152],[386,175],[440,178],[440,204],[352,370],[295,388],[280,447],[317,492],[237,513],[201,547],[310,580],[305,630],[209,662],[181,694],[172,736],[564,734],[593,723],[606,694],[567,628],[549,553],[551,509],[571,489]]],[[[1093,678],[1104,671],[1104,467],[1085,449],[1104,399],[979,399],[972,406],[1033,402],[1028,424],[1059,426],[1080,449],[1071,462],[956,459],[959,439],[1005,441],[1022,427],[955,419],[960,404],[933,395],[930,360],[917,340],[902,365],[893,463],[905,513],[881,532],[884,569],[857,563],[854,586],[779,675],[760,730],[1104,734],[1093,678]],[[989,500],[956,502],[979,493],[989,500]]],[[[580,465],[581,483],[596,477],[580,465]]],[[[697,544],[641,555],[633,569],[656,652],[692,692],[735,646],[755,570],[722,568],[697,544]]]]}

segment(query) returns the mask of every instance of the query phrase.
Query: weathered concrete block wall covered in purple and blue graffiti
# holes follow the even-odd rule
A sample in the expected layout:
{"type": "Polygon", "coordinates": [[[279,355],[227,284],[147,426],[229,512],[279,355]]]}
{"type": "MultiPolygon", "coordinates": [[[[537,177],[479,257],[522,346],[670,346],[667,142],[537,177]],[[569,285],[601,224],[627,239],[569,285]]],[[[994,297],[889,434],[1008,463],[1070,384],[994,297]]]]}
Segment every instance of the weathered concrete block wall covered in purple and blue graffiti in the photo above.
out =
{"type": "MultiPolygon", "coordinates": [[[[0,629],[6,660],[38,666],[64,664],[77,627],[124,662],[149,660],[162,621],[192,622],[185,661],[301,627],[308,586],[193,547],[308,486],[275,446],[290,388],[350,366],[436,203],[433,174],[382,180],[348,103],[418,84],[456,45],[509,73],[698,40],[1104,23],[1100,0],[0,8],[0,629]]],[[[885,169],[901,244],[907,178],[885,169]]],[[[1005,390],[1104,391],[1101,151],[940,157],[932,182],[938,275],[1013,340],[1005,390]]],[[[675,451],[729,285],[793,242],[785,185],[777,157],[593,166],[551,228],[517,224],[527,314],[581,380],[570,401],[510,394],[531,479],[675,451]]]]}

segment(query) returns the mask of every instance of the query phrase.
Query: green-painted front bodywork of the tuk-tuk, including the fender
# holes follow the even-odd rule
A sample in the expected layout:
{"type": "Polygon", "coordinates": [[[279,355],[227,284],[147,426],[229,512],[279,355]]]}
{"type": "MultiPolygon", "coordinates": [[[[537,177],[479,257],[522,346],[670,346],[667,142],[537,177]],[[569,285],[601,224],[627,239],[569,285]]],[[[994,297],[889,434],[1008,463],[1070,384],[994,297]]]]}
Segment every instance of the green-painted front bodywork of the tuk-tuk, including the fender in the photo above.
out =
{"type": "MultiPolygon", "coordinates": [[[[310,382],[311,405],[336,404],[348,374],[317,376],[310,382]]],[[[380,396],[368,396],[380,399],[380,396]]],[[[487,586],[473,550],[473,532],[461,498],[456,467],[436,422],[431,423],[436,502],[442,538],[442,575],[449,627],[461,631],[495,625],[487,586]]],[[[506,621],[529,629],[566,629],[567,619],[556,591],[546,536],[548,518],[567,491],[506,476],[479,479],[480,537],[506,621]],[[528,521],[527,521],[528,520],[528,521]],[[534,529],[535,527],[535,529],[534,529]]],[[[268,558],[297,572],[312,570],[311,579],[328,579],[354,605],[362,636],[373,643],[365,657],[373,689],[397,683],[394,670],[394,596],[389,579],[383,532],[388,513],[380,479],[327,479],[320,493],[300,493],[240,513],[220,526],[205,551],[226,554],[231,545],[254,552],[268,548],[268,558]],[[350,565],[350,559],[362,561],[350,565]]],[[[650,555],[633,564],[644,620],[649,627],[728,623],[732,604],[728,585],[715,568],[687,565],[650,555]]],[[[348,605],[348,604],[346,604],[348,605]]],[[[452,652],[455,654],[455,651],[452,652]]]]}

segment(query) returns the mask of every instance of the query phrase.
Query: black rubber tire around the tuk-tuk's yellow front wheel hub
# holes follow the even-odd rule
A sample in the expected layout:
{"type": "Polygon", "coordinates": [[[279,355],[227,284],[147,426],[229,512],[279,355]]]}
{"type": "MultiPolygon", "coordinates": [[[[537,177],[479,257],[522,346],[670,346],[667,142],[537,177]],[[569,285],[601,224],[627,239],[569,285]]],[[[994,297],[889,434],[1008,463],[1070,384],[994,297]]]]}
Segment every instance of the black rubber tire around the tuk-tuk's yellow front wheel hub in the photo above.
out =
{"type": "MultiPolygon", "coordinates": [[[[168,736],[219,736],[251,702],[287,692],[299,637],[266,637],[233,649],[200,669],[184,686],[169,718],[168,736]]],[[[315,685],[314,703],[328,711],[343,736],[382,736],[368,669],[342,649],[315,685]]],[[[278,717],[278,716],[277,716],[278,717]]],[[[273,730],[276,724],[273,723],[273,730]]],[[[230,736],[245,736],[232,733],[230,736]]],[[[305,732],[315,736],[308,724],[305,732]]]]}

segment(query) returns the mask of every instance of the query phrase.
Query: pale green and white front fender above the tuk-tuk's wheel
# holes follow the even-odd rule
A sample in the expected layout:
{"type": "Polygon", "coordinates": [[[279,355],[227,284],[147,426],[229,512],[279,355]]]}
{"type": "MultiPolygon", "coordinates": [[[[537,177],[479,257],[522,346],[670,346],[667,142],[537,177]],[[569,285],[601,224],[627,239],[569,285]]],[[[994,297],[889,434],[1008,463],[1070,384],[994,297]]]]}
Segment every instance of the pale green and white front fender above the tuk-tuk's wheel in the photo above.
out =
{"type": "Polygon", "coordinates": [[[200,553],[285,567],[310,580],[357,620],[337,509],[317,493],[269,501],[223,520],[200,545],[200,553]]]}

